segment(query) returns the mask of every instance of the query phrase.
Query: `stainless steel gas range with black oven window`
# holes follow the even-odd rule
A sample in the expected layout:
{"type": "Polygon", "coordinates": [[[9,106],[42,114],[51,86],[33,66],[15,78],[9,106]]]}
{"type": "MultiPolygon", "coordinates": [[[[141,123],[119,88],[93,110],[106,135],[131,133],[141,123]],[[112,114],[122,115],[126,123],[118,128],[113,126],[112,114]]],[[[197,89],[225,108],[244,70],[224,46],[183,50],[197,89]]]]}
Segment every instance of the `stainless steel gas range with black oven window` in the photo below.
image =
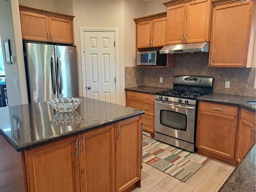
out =
{"type": "Polygon", "coordinates": [[[212,93],[214,78],[174,76],[173,83],[155,96],[155,139],[195,152],[197,97],[212,93]]]}

